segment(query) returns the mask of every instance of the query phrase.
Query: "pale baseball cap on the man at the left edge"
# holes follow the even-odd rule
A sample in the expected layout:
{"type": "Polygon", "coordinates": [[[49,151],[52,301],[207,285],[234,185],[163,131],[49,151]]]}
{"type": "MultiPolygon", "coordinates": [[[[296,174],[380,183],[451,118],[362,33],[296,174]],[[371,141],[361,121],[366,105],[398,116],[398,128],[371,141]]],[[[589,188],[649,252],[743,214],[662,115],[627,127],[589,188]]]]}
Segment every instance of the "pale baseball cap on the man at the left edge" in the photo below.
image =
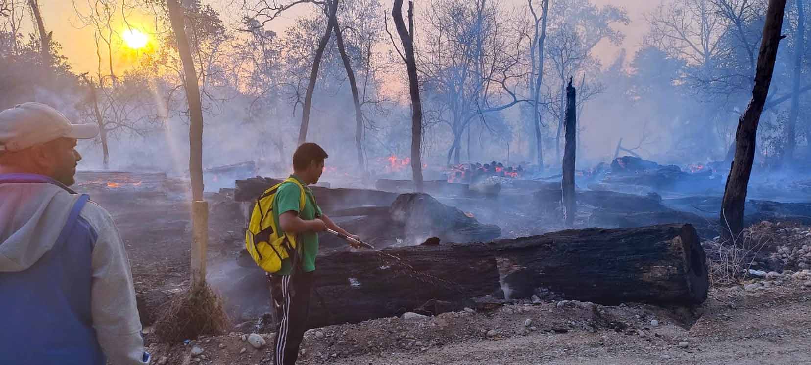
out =
{"type": "Polygon", "coordinates": [[[59,138],[92,140],[96,124],[71,124],[58,110],[29,101],[0,112],[0,152],[14,152],[59,138]]]}

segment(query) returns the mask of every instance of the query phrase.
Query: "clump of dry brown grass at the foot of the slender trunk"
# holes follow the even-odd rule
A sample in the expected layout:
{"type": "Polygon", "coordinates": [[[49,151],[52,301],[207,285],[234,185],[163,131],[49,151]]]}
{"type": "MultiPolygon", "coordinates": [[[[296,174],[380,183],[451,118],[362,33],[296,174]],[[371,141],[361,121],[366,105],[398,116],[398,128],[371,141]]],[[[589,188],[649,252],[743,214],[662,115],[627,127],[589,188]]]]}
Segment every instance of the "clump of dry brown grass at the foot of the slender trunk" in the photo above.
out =
{"type": "Polygon", "coordinates": [[[208,285],[196,286],[174,295],[161,307],[154,325],[155,334],[161,342],[221,334],[228,331],[230,326],[222,298],[208,285]]]}

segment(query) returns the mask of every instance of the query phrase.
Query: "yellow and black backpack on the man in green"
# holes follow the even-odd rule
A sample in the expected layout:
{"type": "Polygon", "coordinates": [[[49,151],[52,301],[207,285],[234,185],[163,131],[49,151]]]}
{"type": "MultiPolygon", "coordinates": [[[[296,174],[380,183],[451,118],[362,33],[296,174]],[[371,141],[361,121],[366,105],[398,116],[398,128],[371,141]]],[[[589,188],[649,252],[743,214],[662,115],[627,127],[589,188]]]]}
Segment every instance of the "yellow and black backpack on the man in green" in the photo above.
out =
{"type": "Polygon", "coordinates": [[[301,191],[298,211],[304,210],[304,204],[307,203],[304,187],[296,179],[287,178],[264,191],[256,199],[253,213],[251,213],[251,223],[248,224],[248,230],[245,233],[245,248],[255,263],[268,273],[279,271],[281,260],[294,254],[297,246],[295,234],[280,235],[279,227],[276,226],[276,221],[273,219],[273,200],[283,183],[294,183],[298,186],[301,191]]]}

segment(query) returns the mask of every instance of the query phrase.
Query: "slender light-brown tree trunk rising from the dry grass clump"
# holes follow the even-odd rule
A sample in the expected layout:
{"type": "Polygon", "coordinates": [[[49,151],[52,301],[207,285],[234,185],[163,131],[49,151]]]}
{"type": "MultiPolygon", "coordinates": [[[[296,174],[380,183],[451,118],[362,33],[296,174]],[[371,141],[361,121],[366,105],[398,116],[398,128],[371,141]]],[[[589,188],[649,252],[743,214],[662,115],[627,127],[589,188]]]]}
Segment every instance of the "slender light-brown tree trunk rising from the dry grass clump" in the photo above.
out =
{"type": "Polygon", "coordinates": [[[206,250],[208,248],[208,204],[203,198],[203,107],[200,101],[200,80],[197,79],[194,58],[186,36],[183,8],[178,0],[166,0],[169,21],[178,44],[183,65],[183,86],[189,106],[189,175],[191,177],[191,282],[205,283],[206,250]]]}

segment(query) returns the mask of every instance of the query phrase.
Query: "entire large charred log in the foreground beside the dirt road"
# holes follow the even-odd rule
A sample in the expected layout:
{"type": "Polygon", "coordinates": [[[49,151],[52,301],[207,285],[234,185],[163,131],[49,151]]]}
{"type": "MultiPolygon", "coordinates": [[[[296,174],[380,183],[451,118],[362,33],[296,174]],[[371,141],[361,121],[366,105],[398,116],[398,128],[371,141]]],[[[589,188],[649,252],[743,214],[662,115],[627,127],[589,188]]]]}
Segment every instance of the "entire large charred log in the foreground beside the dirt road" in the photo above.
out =
{"type": "MultiPolygon", "coordinates": [[[[309,327],[426,311],[426,303],[437,301],[446,311],[458,309],[471,298],[498,292],[500,275],[511,298],[529,298],[544,288],[562,298],[603,304],[694,305],[704,301],[709,286],[704,249],[691,225],[565,230],[382,252],[320,253],[309,327]],[[496,258],[512,265],[500,273],[496,258]]],[[[245,265],[230,277],[234,281],[222,294],[230,307],[229,300],[240,301],[241,313],[234,316],[257,316],[267,308],[267,279],[260,268],[245,265]]]]}

